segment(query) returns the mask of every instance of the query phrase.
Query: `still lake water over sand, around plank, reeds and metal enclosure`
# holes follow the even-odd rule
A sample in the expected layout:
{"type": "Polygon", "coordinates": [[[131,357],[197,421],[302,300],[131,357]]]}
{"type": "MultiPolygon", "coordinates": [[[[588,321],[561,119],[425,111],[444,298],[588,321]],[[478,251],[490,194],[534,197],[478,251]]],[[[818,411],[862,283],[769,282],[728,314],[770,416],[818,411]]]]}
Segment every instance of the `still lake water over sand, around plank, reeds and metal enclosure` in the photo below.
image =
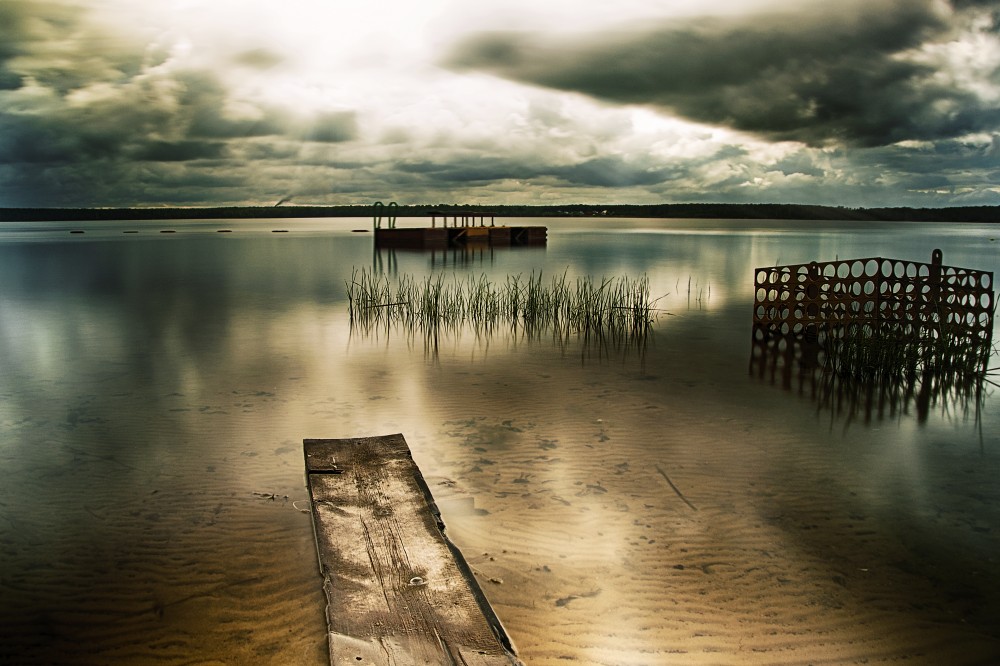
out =
{"type": "Polygon", "coordinates": [[[0,227],[0,662],[324,663],[301,442],[394,432],[529,666],[1000,661],[993,387],[880,415],[750,371],[755,267],[1000,274],[1000,228],[520,222],[547,247],[0,227]],[[354,269],[646,275],[663,311],[643,348],[352,330],[354,269]]]}

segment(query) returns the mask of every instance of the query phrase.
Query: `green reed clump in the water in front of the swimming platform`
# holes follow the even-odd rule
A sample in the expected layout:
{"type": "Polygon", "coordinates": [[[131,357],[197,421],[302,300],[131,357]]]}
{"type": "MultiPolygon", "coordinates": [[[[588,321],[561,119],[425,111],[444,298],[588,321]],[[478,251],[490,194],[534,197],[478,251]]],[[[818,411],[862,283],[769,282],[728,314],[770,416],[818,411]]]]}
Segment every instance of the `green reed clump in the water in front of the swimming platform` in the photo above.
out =
{"type": "Polygon", "coordinates": [[[538,331],[546,327],[577,333],[645,335],[656,318],[646,276],[591,277],[571,281],[565,273],[544,282],[542,273],[508,275],[502,283],[485,275],[446,279],[442,274],[418,280],[401,275],[390,280],[355,269],[347,282],[352,322],[399,323],[433,328],[469,324],[476,329],[500,323],[538,331]]]}

